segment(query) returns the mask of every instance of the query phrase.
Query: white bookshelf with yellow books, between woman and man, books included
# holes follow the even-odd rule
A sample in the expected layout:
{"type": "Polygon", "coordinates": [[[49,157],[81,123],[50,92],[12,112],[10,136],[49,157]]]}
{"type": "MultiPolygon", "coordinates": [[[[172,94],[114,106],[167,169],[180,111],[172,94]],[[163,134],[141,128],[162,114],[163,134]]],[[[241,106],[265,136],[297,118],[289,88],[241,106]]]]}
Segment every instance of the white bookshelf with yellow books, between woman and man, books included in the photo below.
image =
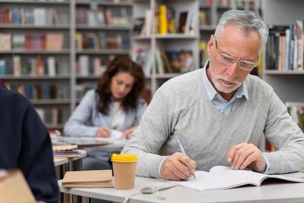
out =
{"type": "MultiPolygon", "coordinates": [[[[135,22],[140,18],[146,20],[146,24],[143,25],[144,32],[134,35],[132,38],[132,50],[148,50],[143,61],[148,63],[146,67],[148,71],[145,68],[148,80],[147,89],[151,91],[152,95],[170,78],[199,68],[199,0],[133,0],[133,11],[135,22]],[[184,24],[185,30],[179,29],[183,16],[188,18],[184,24]],[[173,21],[172,24],[168,23],[171,26],[164,28],[162,25],[166,23],[162,24],[160,19],[165,18],[166,20],[166,17],[173,18],[173,21]],[[177,66],[173,66],[172,61],[168,60],[171,64],[171,68],[168,70],[170,65],[167,61],[166,66],[166,61],[163,62],[162,57],[166,53],[175,53],[176,57],[180,57],[175,60],[178,61],[179,69],[172,70],[177,66]],[[188,70],[183,69],[186,66],[182,66],[180,62],[181,56],[184,57],[184,55],[188,55],[189,61],[192,61],[188,70]],[[160,60],[160,58],[162,59],[160,60]],[[167,67],[167,70],[164,66],[167,67]]],[[[132,54],[134,58],[136,58],[136,52],[138,51],[132,54]]]]}

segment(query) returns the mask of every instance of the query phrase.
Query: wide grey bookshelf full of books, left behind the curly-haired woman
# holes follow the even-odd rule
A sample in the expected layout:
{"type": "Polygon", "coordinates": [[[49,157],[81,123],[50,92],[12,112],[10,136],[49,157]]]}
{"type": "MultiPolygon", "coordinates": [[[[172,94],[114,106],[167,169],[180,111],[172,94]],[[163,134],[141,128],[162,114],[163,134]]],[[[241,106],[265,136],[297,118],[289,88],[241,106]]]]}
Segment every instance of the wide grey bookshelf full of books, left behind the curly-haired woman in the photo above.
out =
{"type": "Polygon", "coordinates": [[[0,78],[32,101],[49,129],[62,131],[109,57],[130,54],[132,12],[131,0],[0,0],[0,78]],[[112,24],[98,21],[100,10],[107,10],[112,24]],[[101,32],[116,37],[115,47],[101,47],[101,32]],[[77,34],[90,43],[83,40],[79,48],[77,34]],[[79,58],[85,70],[79,70],[79,58]]]}

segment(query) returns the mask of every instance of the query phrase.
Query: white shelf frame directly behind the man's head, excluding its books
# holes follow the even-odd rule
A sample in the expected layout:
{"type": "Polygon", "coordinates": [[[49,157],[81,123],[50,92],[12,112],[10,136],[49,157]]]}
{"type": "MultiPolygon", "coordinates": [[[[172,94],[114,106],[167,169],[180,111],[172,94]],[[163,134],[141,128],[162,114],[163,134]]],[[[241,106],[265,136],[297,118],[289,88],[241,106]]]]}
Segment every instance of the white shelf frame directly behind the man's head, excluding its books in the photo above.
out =
{"type": "MultiPolygon", "coordinates": [[[[134,36],[132,38],[132,46],[149,46],[151,54],[155,55],[156,49],[165,51],[181,51],[191,50],[193,54],[193,70],[199,68],[199,30],[195,30],[194,34],[189,36],[180,33],[174,34],[155,34],[155,8],[161,4],[173,7],[175,10],[175,19],[182,11],[192,11],[193,16],[198,18],[199,0],[133,0],[133,20],[135,18],[144,18],[145,11],[152,11],[152,34],[148,36],[134,36]]],[[[197,24],[198,25],[198,24],[197,24]]],[[[195,26],[198,27],[198,26],[195,26]]],[[[155,57],[154,60],[155,61],[155,57]]],[[[152,74],[147,75],[147,89],[153,93],[170,78],[182,73],[158,74],[156,71],[156,63],[152,63],[152,74]]]]}

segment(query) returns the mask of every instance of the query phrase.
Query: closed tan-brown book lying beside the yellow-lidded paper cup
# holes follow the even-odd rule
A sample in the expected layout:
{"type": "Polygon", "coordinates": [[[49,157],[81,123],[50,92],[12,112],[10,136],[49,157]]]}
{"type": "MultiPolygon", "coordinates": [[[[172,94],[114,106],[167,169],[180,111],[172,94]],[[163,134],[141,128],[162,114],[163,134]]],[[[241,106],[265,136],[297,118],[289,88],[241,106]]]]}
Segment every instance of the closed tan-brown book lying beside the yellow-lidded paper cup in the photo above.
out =
{"type": "Polygon", "coordinates": [[[67,171],[62,187],[113,187],[112,170],[67,171]]]}

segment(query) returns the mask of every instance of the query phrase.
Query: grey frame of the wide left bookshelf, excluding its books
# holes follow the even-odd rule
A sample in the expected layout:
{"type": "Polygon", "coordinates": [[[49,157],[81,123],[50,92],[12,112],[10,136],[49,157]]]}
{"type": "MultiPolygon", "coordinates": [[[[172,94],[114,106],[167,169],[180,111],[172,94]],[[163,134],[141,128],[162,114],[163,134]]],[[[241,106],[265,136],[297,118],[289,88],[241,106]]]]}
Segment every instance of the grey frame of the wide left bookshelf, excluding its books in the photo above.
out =
{"type": "MultiPolygon", "coordinates": [[[[49,75],[31,75],[21,74],[16,76],[12,73],[2,74],[0,78],[9,84],[57,84],[61,87],[60,91],[64,92],[62,98],[55,99],[30,99],[35,109],[59,109],[61,110],[61,122],[58,124],[47,124],[49,129],[59,129],[62,131],[64,123],[67,121],[71,112],[75,109],[80,98],[76,98],[76,91],[79,89],[77,84],[80,83],[94,83],[96,82],[100,74],[86,74],[78,75],[76,71],[76,60],[79,55],[88,55],[89,57],[99,57],[101,59],[101,71],[102,67],[106,65],[108,58],[112,55],[130,55],[130,46],[122,49],[82,49],[77,50],[75,45],[75,34],[77,32],[83,33],[96,33],[104,31],[110,33],[110,35],[116,35],[118,33],[125,33],[128,36],[128,42],[131,43],[131,31],[132,31],[132,3],[131,0],[120,1],[107,1],[107,0],[92,0],[80,2],[78,0],[0,0],[0,8],[49,8],[55,9],[59,24],[43,24],[35,25],[31,24],[8,24],[7,22],[0,23],[0,33],[63,33],[63,47],[60,50],[48,51],[47,49],[14,49],[12,47],[9,51],[0,51],[0,59],[11,58],[13,56],[20,55],[21,60],[26,60],[29,57],[55,57],[57,64],[57,73],[54,76],[49,75]],[[124,8],[130,24],[128,25],[88,25],[76,23],[77,8],[89,9],[92,7],[104,7],[104,8],[124,8]],[[23,59],[25,58],[25,59],[23,59]]],[[[1,19],[0,19],[1,20],[1,19]]],[[[55,41],[53,41],[55,43],[55,41]]],[[[6,64],[8,65],[8,64],[6,64]]],[[[13,64],[10,64],[13,66],[13,64]]],[[[23,64],[24,65],[24,64],[23,64]]]]}

